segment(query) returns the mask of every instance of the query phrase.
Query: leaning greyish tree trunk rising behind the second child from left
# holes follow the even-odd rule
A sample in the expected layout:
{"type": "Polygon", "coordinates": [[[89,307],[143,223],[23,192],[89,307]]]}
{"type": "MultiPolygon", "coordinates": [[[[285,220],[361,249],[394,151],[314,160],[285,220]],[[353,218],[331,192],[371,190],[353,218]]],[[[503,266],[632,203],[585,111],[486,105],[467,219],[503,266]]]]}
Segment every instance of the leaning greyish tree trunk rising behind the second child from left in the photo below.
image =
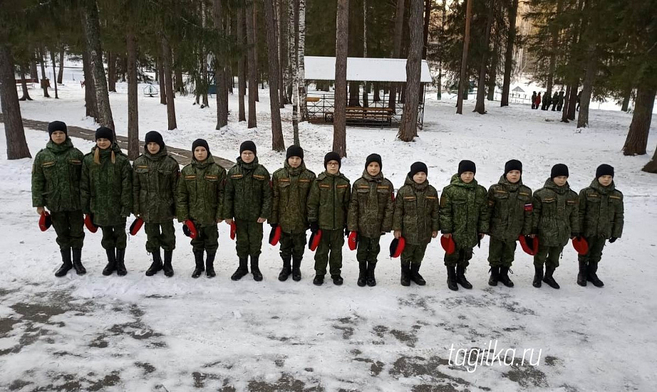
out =
{"type": "Polygon", "coordinates": [[[91,60],[91,76],[96,92],[98,105],[98,122],[104,127],[114,129],[112,109],[109,106],[109,92],[107,91],[107,78],[102,61],[100,48],[100,22],[98,21],[98,6],[95,0],[84,0],[84,34],[89,48],[91,60]]]}

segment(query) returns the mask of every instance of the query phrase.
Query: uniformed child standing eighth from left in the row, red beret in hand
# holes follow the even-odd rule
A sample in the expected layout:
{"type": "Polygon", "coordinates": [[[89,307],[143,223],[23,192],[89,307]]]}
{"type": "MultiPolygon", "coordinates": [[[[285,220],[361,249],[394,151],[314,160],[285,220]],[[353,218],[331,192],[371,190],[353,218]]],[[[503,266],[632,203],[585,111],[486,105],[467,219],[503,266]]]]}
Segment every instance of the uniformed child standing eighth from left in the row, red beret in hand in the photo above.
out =
{"type": "Polygon", "coordinates": [[[381,156],[373,153],[365,160],[362,177],[351,189],[347,226],[358,233],[358,286],[376,286],[374,269],[381,251],[379,241],[383,233],[392,230],[395,212],[394,186],[383,177],[381,156]]]}

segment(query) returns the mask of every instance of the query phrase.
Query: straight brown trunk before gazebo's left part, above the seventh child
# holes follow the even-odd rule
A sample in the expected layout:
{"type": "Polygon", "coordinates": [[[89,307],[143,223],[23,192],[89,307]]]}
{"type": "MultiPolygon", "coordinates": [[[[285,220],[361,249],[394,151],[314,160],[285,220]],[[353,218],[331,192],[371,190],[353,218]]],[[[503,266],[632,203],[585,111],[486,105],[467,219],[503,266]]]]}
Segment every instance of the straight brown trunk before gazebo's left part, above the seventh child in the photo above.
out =
{"type": "MultiPolygon", "coordinates": [[[[403,0],[400,0],[403,1],[403,0]]],[[[337,0],[335,29],[335,112],[333,151],[346,157],[346,56],[349,50],[349,0],[337,0]]]]}

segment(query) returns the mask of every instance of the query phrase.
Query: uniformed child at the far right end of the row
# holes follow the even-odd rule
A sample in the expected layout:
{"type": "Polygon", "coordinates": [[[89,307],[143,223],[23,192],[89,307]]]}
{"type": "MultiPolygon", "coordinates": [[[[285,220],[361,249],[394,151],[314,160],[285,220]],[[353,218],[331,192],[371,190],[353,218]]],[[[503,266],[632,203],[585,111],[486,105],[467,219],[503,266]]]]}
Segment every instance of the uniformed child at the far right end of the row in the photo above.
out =
{"type": "Polygon", "coordinates": [[[613,167],[600,165],[591,186],[580,191],[580,228],[589,243],[589,253],[579,257],[578,285],[586,286],[586,281],[590,281],[595,287],[604,286],[596,274],[598,263],[605,241],[614,243],[620,239],[623,214],[623,194],[613,183],[613,167]]]}

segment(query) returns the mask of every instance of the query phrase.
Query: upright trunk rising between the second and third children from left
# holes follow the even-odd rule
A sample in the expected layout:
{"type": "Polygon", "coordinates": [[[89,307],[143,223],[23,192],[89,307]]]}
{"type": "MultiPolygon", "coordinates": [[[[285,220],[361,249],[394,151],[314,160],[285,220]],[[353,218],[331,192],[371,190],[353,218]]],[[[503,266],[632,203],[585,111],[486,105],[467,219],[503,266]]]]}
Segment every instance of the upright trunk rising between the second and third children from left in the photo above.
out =
{"type": "Polygon", "coordinates": [[[137,103],[137,42],[129,28],[125,37],[128,74],[128,158],[139,156],[139,106],[137,103]]]}

